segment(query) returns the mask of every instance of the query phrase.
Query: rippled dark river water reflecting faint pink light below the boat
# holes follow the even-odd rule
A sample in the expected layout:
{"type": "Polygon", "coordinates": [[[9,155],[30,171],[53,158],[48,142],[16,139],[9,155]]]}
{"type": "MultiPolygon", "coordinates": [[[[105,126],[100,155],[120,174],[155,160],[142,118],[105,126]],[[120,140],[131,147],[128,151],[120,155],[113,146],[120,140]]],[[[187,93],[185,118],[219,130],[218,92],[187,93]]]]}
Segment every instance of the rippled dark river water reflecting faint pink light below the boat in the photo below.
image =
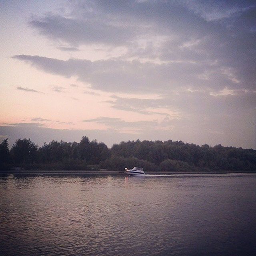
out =
{"type": "Polygon", "coordinates": [[[256,255],[256,175],[2,175],[0,255],[256,255]]]}

